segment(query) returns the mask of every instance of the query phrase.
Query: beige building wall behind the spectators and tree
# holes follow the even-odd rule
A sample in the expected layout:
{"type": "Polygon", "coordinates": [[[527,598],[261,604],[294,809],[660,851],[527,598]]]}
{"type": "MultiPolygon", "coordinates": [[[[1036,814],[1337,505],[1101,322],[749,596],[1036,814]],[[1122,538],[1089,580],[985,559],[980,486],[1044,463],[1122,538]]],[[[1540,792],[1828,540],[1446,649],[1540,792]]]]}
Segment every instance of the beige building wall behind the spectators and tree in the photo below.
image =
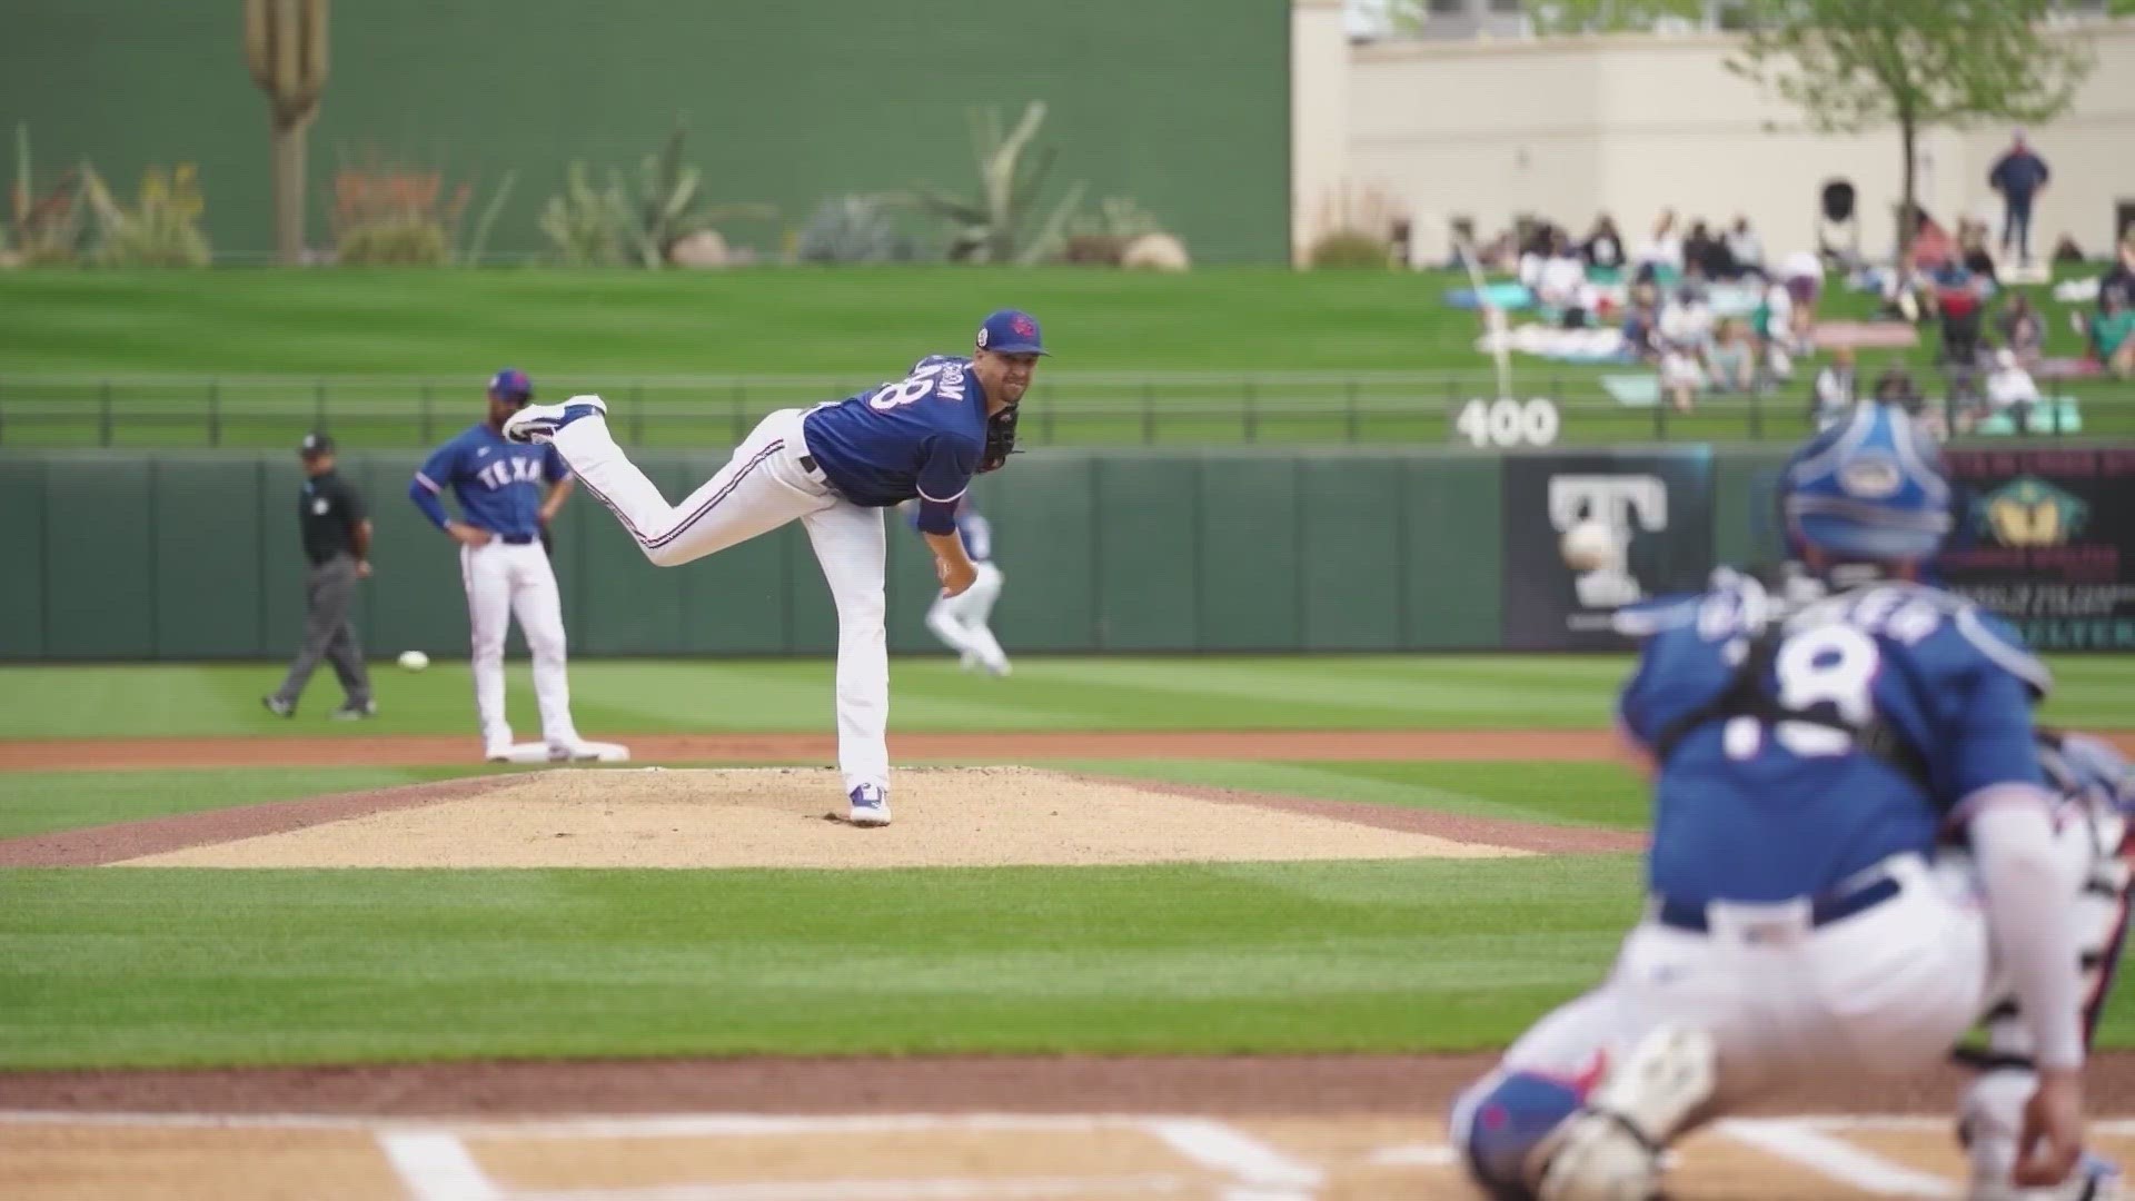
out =
{"type": "MultiPolygon", "coordinates": [[[[2060,120],[2028,130],[2054,171],[2033,252],[2075,237],[2107,252],[2135,214],[2135,21],[2084,28],[2097,68],[2060,120]]],[[[1292,45],[1292,227],[1296,250],[1364,209],[1416,220],[1418,256],[1439,261],[1450,222],[1484,235],[1518,214],[1576,235],[1597,212],[1638,244],[1663,207],[1717,222],[1746,216],[1770,259],[1815,246],[1817,194],[1843,177],[1860,197],[1862,250],[1889,254],[1900,197],[1896,128],[1817,135],[1800,113],[1727,71],[1725,34],[1620,34],[1351,45],[1337,2],[1296,0],[1292,45]],[[1334,147],[1341,147],[1337,154],[1334,147]]],[[[1988,188],[2009,126],[1932,130],[1919,197],[1945,227],[1992,216],[1988,188]]]]}

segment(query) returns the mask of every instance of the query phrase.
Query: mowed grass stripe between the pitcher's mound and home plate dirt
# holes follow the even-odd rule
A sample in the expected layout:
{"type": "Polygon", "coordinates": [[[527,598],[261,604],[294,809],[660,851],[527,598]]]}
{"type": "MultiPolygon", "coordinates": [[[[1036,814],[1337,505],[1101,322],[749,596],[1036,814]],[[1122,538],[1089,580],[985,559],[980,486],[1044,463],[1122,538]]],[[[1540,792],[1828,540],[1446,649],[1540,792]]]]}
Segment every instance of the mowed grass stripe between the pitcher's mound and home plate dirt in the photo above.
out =
{"type": "Polygon", "coordinates": [[[0,872],[0,1066],[1392,1051],[1599,974],[1631,857],[931,872],[0,872]]]}

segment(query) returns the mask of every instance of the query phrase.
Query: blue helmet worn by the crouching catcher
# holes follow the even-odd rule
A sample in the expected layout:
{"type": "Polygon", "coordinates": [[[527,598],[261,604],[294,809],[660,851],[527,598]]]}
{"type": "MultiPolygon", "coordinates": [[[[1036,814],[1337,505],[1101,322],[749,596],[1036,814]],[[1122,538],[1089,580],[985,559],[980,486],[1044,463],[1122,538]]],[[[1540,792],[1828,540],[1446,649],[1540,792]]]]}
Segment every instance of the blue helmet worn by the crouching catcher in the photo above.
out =
{"type": "Polygon", "coordinates": [[[1941,459],[1902,408],[1862,404],[1787,462],[1778,504],[1789,539],[1847,560],[1932,558],[1949,536],[1941,459]]]}

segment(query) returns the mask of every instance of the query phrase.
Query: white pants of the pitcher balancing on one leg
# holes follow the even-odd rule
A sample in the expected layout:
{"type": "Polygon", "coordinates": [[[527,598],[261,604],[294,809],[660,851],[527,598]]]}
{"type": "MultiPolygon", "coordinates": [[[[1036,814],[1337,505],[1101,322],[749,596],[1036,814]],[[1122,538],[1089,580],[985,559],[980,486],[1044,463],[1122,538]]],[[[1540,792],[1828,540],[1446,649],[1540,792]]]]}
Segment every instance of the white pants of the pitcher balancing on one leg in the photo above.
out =
{"type": "Polygon", "coordinates": [[[798,519],[837,603],[837,765],[845,791],[888,786],[890,652],[882,624],[882,511],[863,509],[835,492],[822,472],[801,466],[807,440],[801,417],[781,408],[764,417],[734,457],[681,504],[623,455],[604,417],[581,417],[555,432],[553,444],[572,474],[660,566],[724,551],[798,519]]]}

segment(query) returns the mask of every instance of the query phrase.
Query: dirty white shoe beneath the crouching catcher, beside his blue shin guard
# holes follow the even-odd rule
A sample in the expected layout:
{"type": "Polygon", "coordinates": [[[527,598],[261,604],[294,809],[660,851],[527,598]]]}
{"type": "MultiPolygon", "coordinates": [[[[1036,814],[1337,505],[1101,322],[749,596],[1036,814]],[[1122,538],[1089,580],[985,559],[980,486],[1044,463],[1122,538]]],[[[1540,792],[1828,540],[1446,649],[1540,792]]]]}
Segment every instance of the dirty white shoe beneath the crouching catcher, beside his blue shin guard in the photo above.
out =
{"type": "Polygon", "coordinates": [[[1652,1201],[1661,1150],[1712,1096],[1717,1047],[1699,1030],[1655,1030],[1614,1064],[1586,1101],[1537,1148],[1548,1158],[1539,1201],[1652,1201]]]}

